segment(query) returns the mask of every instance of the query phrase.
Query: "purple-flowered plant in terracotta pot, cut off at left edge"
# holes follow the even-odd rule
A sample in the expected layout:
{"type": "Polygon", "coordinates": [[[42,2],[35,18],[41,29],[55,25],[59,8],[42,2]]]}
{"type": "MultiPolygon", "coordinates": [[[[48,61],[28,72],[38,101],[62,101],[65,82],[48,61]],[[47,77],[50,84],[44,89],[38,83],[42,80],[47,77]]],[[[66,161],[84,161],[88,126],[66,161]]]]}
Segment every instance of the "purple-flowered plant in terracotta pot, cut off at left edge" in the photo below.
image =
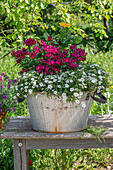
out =
{"type": "Polygon", "coordinates": [[[13,91],[13,86],[17,80],[8,79],[5,73],[0,75],[0,129],[3,129],[6,114],[11,111],[16,111],[16,96],[13,91]]]}

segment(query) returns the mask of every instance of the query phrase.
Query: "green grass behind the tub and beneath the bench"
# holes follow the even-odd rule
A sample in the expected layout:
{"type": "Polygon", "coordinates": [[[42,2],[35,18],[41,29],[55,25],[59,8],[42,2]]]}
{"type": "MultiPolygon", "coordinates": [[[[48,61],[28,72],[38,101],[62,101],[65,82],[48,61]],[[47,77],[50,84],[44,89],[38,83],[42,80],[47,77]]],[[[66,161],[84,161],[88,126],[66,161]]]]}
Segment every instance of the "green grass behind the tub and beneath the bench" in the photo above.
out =
{"type": "MultiPolygon", "coordinates": [[[[8,50],[8,49],[7,49],[8,50]]],[[[91,49],[87,48],[88,60],[100,64],[113,78],[113,51],[107,53],[93,54],[91,49]]],[[[0,52],[0,57],[3,56],[0,52]]],[[[14,67],[14,60],[11,55],[0,60],[0,73],[5,72],[10,78],[16,78],[20,68],[14,67]]],[[[112,85],[113,86],[113,85],[112,85]]],[[[110,87],[108,93],[108,102],[105,105],[93,102],[91,114],[109,114],[113,112],[113,88],[110,87]]],[[[18,115],[29,115],[26,101],[18,105],[15,113],[9,113],[8,117],[18,115]]],[[[6,119],[6,121],[7,121],[6,119]]],[[[52,150],[31,150],[30,159],[33,160],[32,170],[100,170],[111,167],[113,169],[113,149],[52,149],[52,150]]],[[[12,140],[1,139],[0,142],[0,170],[13,169],[13,148],[12,140]]]]}

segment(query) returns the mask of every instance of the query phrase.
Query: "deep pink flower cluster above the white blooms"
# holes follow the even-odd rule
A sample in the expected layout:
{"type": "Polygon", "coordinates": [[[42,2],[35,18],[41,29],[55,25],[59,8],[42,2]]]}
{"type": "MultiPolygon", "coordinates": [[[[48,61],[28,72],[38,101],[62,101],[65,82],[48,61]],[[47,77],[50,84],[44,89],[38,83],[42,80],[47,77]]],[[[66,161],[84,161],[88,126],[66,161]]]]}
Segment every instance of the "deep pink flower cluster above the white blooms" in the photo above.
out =
{"type": "MultiPolygon", "coordinates": [[[[48,38],[48,41],[51,37],[48,38]]],[[[86,60],[87,53],[84,49],[77,48],[76,45],[71,45],[69,50],[61,50],[60,46],[48,45],[44,40],[37,42],[33,39],[28,39],[24,42],[27,46],[33,46],[31,52],[27,49],[13,51],[12,56],[17,59],[17,64],[23,67],[22,72],[28,70],[37,70],[38,73],[56,74],[60,71],[74,70],[79,67],[81,61],[86,60]]]]}

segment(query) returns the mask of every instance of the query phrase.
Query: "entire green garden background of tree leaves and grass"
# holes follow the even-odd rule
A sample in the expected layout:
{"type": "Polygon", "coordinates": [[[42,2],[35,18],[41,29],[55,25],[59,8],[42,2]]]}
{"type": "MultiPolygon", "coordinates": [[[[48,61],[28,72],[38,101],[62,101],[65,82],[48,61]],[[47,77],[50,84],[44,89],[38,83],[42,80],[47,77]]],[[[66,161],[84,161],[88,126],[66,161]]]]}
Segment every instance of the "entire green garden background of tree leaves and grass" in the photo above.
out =
{"type": "MultiPolygon", "coordinates": [[[[92,47],[92,49],[88,47],[89,59],[101,64],[113,78],[113,3],[111,0],[94,0],[91,4],[83,0],[72,3],[63,0],[0,1],[0,57],[10,53],[14,48],[23,47],[22,41],[26,38],[43,37],[45,30],[49,35],[54,35],[56,32],[59,34],[60,22],[70,23],[74,36],[85,37],[84,41],[92,47]],[[97,53],[98,51],[103,53],[97,53]]],[[[13,67],[14,64],[15,61],[8,54],[0,60],[0,71],[8,74],[10,78],[17,78],[20,68],[13,67]]],[[[108,101],[104,106],[92,103],[92,114],[113,112],[113,85],[106,96],[108,101]]],[[[7,118],[17,115],[28,115],[26,101],[19,105],[15,114],[9,113],[7,118]]],[[[32,150],[31,169],[97,170],[110,167],[112,169],[112,157],[113,149],[32,150]]],[[[1,139],[0,170],[8,169],[14,169],[12,140],[1,139]]]]}

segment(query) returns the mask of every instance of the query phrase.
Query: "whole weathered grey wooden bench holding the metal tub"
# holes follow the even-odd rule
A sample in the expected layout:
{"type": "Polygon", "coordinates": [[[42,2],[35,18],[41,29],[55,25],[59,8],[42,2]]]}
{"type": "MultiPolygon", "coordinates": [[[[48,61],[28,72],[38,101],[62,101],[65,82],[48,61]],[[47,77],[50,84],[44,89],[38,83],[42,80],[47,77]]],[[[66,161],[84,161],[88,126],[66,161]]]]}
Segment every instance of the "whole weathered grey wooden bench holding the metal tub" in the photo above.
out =
{"type": "Polygon", "coordinates": [[[30,117],[11,117],[0,138],[13,139],[14,170],[29,170],[30,149],[113,148],[113,116],[89,116],[88,126],[105,128],[100,143],[90,133],[42,133],[32,129],[30,117]]]}

